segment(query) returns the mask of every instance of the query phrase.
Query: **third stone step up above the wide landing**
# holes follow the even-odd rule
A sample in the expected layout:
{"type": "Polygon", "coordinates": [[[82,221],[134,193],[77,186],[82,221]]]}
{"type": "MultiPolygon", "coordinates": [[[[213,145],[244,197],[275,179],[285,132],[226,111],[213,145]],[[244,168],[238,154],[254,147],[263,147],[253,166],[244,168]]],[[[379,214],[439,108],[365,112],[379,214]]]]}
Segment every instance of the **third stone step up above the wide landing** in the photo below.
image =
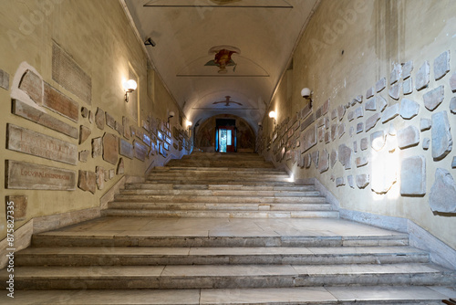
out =
{"type": "Polygon", "coordinates": [[[127,190],[233,190],[233,191],[275,191],[275,192],[307,192],[315,191],[315,185],[243,185],[243,184],[125,184],[127,190]]]}

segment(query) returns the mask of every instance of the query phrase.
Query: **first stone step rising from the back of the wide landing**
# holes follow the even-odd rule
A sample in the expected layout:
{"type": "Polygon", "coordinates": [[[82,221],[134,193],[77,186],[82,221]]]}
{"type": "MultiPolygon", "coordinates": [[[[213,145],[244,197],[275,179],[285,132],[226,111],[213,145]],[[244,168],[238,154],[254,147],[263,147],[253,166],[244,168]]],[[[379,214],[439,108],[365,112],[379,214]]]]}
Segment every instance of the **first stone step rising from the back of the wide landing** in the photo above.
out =
{"type": "Polygon", "coordinates": [[[109,208],[102,216],[186,218],[338,218],[338,211],[138,210],[109,208]]]}

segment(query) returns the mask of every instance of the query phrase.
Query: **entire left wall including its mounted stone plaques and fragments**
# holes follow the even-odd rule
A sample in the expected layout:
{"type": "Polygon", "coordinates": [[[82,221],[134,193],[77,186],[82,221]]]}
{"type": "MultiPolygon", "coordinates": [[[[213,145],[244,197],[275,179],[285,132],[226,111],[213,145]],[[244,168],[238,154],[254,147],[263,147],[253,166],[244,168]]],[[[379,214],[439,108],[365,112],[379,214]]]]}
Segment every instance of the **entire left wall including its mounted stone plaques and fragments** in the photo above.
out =
{"type": "MultiPolygon", "coordinates": [[[[16,229],[37,217],[98,216],[124,175],[143,177],[191,151],[181,110],[119,2],[0,6],[0,193],[15,203],[16,229]],[[132,77],[138,89],[126,102],[122,81],[132,77]]],[[[0,239],[5,218],[0,209],[0,239]]]]}

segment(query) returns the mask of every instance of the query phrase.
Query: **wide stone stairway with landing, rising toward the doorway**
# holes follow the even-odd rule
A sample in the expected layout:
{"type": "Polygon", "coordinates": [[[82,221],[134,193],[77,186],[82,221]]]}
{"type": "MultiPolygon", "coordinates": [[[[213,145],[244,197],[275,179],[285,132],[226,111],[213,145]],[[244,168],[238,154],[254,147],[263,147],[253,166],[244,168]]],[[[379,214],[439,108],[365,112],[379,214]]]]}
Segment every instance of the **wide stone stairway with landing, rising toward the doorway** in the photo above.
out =
{"type": "MultiPolygon", "coordinates": [[[[443,304],[456,272],[256,154],[193,153],[36,234],[0,304],[443,304]]],[[[0,271],[4,283],[6,270],[0,271]]]]}

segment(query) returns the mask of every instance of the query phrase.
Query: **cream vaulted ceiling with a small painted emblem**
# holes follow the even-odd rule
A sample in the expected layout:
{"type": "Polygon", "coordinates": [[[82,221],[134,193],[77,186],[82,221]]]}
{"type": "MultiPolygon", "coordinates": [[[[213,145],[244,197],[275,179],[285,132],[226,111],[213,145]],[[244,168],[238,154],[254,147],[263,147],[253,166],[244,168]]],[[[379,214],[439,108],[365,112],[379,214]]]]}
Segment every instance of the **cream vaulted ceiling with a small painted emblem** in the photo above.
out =
{"type": "Polygon", "coordinates": [[[318,0],[125,0],[190,121],[234,114],[255,128],[318,0]]]}

